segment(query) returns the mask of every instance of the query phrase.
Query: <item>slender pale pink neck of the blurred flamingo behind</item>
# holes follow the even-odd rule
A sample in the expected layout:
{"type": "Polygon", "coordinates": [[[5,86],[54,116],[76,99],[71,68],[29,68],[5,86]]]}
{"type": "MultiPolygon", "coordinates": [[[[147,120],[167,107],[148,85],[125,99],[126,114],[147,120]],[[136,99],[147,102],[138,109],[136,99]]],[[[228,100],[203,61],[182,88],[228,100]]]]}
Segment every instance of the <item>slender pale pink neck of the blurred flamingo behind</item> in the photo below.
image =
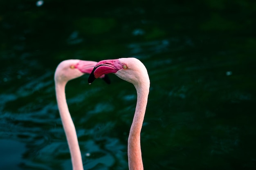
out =
{"type": "Polygon", "coordinates": [[[67,137],[67,143],[70,148],[73,170],[83,170],[83,162],[76,136],[76,129],[67,107],[65,85],[66,83],[55,84],[58,109],[61,115],[63,128],[67,137]]]}

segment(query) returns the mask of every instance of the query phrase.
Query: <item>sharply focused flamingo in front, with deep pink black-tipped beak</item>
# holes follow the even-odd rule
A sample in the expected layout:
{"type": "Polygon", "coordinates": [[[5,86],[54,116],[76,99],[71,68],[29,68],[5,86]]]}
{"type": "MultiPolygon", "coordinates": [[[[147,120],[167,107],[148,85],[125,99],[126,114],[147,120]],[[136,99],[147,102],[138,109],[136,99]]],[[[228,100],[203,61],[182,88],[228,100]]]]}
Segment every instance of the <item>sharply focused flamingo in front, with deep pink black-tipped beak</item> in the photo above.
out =
{"type": "Polygon", "coordinates": [[[129,170],[143,170],[141,156],[140,132],[146,112],[150,80],[144,64],[136,58],[119,58],[98,62],[88,78],[91,84],[94,79],[115,73],[119,78],[132,83],[137,91],[137,104],[128,137],[128,167],[129,170]]]}

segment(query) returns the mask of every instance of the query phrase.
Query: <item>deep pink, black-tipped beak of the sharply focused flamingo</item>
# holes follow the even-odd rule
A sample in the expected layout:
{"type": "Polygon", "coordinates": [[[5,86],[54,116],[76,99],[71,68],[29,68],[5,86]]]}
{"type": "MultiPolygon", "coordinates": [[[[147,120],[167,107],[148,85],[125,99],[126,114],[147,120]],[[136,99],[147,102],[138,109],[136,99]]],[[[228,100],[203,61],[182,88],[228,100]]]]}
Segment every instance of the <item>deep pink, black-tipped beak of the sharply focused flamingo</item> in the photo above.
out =
{"type": "Polygon", "coordinates": [[[122,68],[121,62],[118,59],[115,60],[102,60],[98,62],[88,78],[88,83],[91,84],[95,79],[101,77],[102,75],[107,75],[109,73],[117,73],[122,68]]]}

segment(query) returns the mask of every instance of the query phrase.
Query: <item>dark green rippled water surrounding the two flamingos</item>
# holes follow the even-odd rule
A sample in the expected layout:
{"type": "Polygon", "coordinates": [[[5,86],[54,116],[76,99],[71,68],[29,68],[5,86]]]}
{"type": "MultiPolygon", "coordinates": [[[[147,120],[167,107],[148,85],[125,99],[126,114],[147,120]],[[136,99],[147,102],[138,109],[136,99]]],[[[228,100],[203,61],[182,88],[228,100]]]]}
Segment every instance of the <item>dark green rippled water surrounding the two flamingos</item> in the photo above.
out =
{"type": "MultiPolygon", "coordinates": [[[[150,76],[145,170],[256,169],[253,0],[0,1],[0,170],[71,170],[62,60],[134,56],[150,76]]],[[[85,170],[128,170],[132,84],[88,75],[66,96],[85,170]]]]}

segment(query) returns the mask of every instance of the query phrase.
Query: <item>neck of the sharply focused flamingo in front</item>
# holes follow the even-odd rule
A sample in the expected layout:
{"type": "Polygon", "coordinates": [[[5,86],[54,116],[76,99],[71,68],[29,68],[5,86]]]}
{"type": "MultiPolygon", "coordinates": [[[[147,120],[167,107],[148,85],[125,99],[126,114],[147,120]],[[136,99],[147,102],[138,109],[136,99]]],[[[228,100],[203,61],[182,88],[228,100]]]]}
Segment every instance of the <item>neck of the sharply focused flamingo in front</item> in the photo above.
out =
{"type": "Polygon", "coordinates": [[[135,88],[137,90],[137,104],[128,137],[128,164],[129,170],[143,170],[140,147],[140,132],[146,112],[149,87],[135,86],[135,88]]]}

